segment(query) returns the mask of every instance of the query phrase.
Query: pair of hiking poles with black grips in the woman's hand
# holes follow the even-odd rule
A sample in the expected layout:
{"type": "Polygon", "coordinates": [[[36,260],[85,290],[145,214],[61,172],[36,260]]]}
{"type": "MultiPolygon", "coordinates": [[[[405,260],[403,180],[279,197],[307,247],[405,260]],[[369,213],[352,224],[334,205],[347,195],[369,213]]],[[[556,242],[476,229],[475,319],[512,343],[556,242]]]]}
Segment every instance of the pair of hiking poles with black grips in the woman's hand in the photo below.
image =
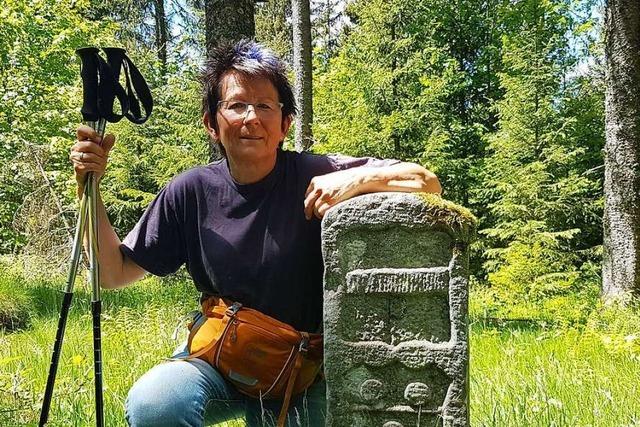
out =
{"type": "MultiPolygon", "coordinates": [[[[133,123],[144,123],[153,109],[153,99],[144,78],[125,54],[124,49],[104,48],[107,61],[95,47],[78,49],[76,53],[82,61],[81,76],[83,86],[82,116],[86,124],[93,128],[101,141],[104,137],[106,122],[117,122],[127,117],[133,123]],[[125,71],[125,90],[119,82],[121,68],[125,71]],[[115,98],[118,98],[122,114],[113,111],[115,98]],[[143,115],[140,103],[145,110],[143,115]]],[[[69,276],[62,301],[58,330],[54,343],[49,375],[39,426],[46,424],[53,396],[53,388],[58,369],[58,362],[62,352],[62,342],[66,328],[67,317],[73,298],[73,285],[77,274],[82,241],[86,232],[89,252],[89,272],[91,282],[91,317],[93,327],[93,357],[95,379],[95,407],[96,425],[104,426],[104,403],[102,389],[102,339],[100,316],[102,303],[100,300],[100,272],[98,264],[98,190],[97,178],[92,172],[87,174],[84,193],[80,201],[78,222],[74,236],[69,276]]]]}

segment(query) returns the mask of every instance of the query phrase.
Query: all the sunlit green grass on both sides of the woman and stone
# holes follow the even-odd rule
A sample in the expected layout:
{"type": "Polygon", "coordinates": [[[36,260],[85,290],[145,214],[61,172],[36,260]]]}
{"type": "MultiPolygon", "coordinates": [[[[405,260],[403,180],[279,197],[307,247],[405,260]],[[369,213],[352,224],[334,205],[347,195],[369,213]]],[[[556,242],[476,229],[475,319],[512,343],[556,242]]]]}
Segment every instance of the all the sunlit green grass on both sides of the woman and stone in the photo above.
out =
{"type": "MultiPolygon", "coordinates": [[[[3,427],[37,424],[57,326],[57,289],[62,286],[51,281],[13,283],[12,292],[25,295],[31,311],[22,329],[0,329],[3,427]]],[[[196,297],[186,281],[168,285],[156,279],[103,293],[106,425],[125,425],[123,407],[129,388],[171,353],[176,320],[195,307],[196,297]]],[[[67,325],[50,426],[95,423],[89,300],[88,292],[79,286],[67,325]]],[[[582,330],[472,325],[471,424],[640,426],[640,343],[625,327],[629,323],[616,313],[609,312],[594,321],[597,327],[582,330]],[[617,322],[613,332],[603,326],[611,322],[617,322]]],[[[633,313],[624,315],[631,319],[633,313]]],[[[630,322],[633,328],[640,324],[630,322]]]]}

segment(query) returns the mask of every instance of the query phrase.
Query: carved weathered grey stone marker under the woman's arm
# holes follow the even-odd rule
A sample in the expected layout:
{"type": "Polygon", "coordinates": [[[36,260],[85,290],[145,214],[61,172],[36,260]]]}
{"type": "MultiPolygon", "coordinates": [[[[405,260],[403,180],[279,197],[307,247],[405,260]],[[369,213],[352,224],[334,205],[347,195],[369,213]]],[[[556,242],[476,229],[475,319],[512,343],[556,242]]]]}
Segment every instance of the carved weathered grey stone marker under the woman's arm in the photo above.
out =
{"type": "Polygon", "coordinates": [[[435,195],[376,193],[322,222],[327,426],[468,426],[468,244],[435,195]]]}

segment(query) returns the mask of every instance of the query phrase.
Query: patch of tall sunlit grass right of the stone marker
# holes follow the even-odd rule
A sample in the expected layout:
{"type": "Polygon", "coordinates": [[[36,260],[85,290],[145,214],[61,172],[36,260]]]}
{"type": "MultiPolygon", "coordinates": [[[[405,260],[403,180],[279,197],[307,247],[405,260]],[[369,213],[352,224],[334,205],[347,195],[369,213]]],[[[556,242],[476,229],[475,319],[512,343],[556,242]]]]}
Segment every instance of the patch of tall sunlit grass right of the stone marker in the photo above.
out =
{"type": "Polygon", "coordinates": [[[473,327],[471,425],[640,426],[640,359],[605,337],[473,327]]]}

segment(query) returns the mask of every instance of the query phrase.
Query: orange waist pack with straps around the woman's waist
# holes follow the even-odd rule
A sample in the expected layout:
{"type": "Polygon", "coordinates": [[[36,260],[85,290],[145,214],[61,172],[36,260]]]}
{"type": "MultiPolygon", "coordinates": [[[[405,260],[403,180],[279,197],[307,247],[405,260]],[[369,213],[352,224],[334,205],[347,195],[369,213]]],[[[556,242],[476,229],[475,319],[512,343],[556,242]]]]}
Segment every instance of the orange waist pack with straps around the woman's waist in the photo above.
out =
{"type": "Polygon", "coordinates": [[[189,323],[189,356],[209,362],[251,397],[282,398],[284,424],[292,395],[306,390],[322,366],[322,334],[299,332],[257,310],[209,297],[189,323]]]}

